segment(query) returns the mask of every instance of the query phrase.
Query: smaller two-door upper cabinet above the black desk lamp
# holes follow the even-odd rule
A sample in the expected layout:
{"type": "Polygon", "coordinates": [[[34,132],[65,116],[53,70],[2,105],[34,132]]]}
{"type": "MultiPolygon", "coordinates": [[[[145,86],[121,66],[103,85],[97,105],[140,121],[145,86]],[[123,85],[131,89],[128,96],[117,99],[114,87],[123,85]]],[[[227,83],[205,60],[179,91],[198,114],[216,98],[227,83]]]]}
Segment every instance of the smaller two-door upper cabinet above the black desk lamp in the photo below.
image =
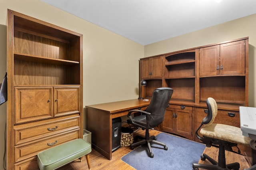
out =
{"type": "Polygon", "coordinates": [[[141,59],[141,79],[162,78],[162,61],[162,56],[141,59]]]}

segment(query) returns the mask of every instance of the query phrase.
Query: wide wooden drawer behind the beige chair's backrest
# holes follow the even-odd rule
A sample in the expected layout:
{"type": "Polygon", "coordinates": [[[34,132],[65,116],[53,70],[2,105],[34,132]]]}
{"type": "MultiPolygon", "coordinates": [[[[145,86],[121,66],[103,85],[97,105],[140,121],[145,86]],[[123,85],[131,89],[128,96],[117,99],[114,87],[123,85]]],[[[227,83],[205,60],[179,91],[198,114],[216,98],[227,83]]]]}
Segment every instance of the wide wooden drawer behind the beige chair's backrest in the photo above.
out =
{"type": "MultiPolygon", "coordinates": [[[[206,113],[204,110],[208,110],[207,108],[196,108],[196,120],[197,122],[202,122],[204,117],[206,117],[206,113]]],[[[218,109],[218,114],[215,117],[214,123],[221,123],[225,125],[240,127],[240,115],[238,111],[229,111],[218,109]]]]}

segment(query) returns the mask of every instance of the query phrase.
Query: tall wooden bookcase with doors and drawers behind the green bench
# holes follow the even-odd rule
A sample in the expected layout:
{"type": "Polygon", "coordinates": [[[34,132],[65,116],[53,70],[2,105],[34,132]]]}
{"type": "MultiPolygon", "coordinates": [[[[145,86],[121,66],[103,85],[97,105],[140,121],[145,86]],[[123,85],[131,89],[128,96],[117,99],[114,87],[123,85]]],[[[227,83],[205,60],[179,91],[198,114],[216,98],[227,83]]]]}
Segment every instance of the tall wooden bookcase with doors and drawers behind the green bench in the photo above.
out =
{"type": "Polygon", "coordinates": [[[6,168],[83,133],[82,35],[8,10],[6,168]]]}

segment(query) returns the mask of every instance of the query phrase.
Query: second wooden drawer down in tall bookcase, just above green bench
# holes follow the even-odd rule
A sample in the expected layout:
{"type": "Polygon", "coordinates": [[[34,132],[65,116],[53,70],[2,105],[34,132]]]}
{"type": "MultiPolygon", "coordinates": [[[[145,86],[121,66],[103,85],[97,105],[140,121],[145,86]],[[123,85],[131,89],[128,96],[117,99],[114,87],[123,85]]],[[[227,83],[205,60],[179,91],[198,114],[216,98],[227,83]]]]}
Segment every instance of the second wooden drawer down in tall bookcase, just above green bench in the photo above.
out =
{"type": "Polygon", "coordinates": [[[58,146],[64,142],[74,140],[79,136],[79,129],[70,131],[68,133],[62,133],[60,135],[50,136],[50,138],[44,138],[44,140],[30,143],[26,145],[14,146],[15,148],[15,162],[31,158],[36,156],[38,152],[58,146]]]}

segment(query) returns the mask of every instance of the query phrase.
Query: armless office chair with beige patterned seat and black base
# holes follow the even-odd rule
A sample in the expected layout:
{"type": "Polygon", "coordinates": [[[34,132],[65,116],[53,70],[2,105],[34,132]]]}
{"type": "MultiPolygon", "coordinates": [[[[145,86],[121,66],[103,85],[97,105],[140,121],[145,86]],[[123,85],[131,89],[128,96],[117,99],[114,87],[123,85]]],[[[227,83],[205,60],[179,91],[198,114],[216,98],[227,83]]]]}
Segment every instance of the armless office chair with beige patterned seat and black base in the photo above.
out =
{"type": "Polygon", "coordinates": [[[206,154],[201,155],[201,160],[208,159],[212,165],[207,164],[196,164],[193,163],[193,169],[198,168],[208,170],[221,170],[221,169],[234,169],[239,170],[240,164],[238,162],[232,164],[226,164],[225,150],[232,151],[232,146],[237,144],[244,144],[250,146],[250,138],[243,136],[242,131],[238,127],[233,127],[223,124],[214,124],[213,121],[218,113],[218,107],[216,101],[209,97],[206,100],[208,107],[208,114],[203,119],[201,125],[196,130],[196,136],[206,144],[207,147],[211,147],[212,144],[219,146],[218,162],[210,158],[206,154]],[[200,130],[202,137],[199,136],[198,130],[200,130]]]}

